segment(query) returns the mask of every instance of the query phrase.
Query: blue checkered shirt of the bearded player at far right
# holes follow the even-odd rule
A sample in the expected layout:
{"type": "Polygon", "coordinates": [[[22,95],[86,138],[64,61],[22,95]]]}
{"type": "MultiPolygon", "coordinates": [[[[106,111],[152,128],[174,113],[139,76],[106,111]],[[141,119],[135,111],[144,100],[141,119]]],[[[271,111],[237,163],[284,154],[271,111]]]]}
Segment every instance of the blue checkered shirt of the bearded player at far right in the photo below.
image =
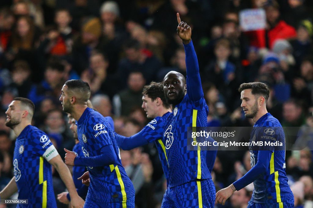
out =
{"type": "MultiPolygon", "coordinates": [[[[255,124],[253,131],[251,133],[252,139],[260,139],[261,136],[268,136],[264,133],[264,127],[276,127],[272,128],[275,130],[275,135],[271,135],[275,139],[283,142],[285,144],[285,134],[283,129],[281,128],[281,124],[277,119],[275,119],[271,114],[267,113],[262,116],[255,124]],[[263,127],[263,128],[259,128],[263,127]]],[[[266,173],[260,176],[257,180],[254,181],[254,191],[252,194],[251,201],[259,204],[273,204],[278,202],[286,202],[293,204],[294,196],[288,186],[288,178],[286,177],[285,172],[285,151],[277,150],[281,149],[281,147],[273,147],[272,152],[274,152],[274,171],[278,171],[278,181],[279,181],[279,190],[280,190],[280,198],[277,197],[279,195],[276,190],[275,183],[275,174],[270,173],[270,166],[268,167],[266,173]]],[[[285,147],[284,147],[285,149],[285,147]]],[[[253,167],[258,162],[258,152],[259,151],[251,151],[251,167],[253,167]]]]}

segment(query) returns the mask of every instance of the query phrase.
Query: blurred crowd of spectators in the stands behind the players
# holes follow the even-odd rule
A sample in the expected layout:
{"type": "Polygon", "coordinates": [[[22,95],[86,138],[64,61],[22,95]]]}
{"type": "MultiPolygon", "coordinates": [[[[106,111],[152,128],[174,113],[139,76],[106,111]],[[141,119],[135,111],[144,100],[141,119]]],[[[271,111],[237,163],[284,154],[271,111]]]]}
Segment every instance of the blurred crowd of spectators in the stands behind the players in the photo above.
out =
{"type": "MultiPolygon", "coordinates": [[[[35,103],[33,124],[63,158],[63,148],[74,146],[59,102],[66,80],[90,84],[94,108],[114,119],[117,133],[139,132],[149,122],[141,108],[143,86],[162,81],[171,70],[186,75],[177,12],[192,27],[208,126],[252,126],[240,108],[238,88],[260,81],[270,87],[269,113],[284,127],[313,127],[313,1],[0,1],[0,189],[13,176],[15,135],[4,123],[15,97],[35,103]],[[264,9],[265,29],[242,31],[239,12],[249,8],[264,9]]],[[[312,138],[313,129],[310,133],[312,138]]],[[[286,152],[298,208],[313,207],[312,142],[309,146],[286,152]]],[[[135,186],[136,206],[160,207],[166,179],[154,144],[121,150],[121,158],[135,186]]],[[[217,191],[249,171],[249,158],[249,152],[218,152],[212,172],[217,191]]],[[[55,193],[64,189],[54,173],[55,193]]],[[[246,207],[252,190],[250,184],[216,207],[246,207]]]]}

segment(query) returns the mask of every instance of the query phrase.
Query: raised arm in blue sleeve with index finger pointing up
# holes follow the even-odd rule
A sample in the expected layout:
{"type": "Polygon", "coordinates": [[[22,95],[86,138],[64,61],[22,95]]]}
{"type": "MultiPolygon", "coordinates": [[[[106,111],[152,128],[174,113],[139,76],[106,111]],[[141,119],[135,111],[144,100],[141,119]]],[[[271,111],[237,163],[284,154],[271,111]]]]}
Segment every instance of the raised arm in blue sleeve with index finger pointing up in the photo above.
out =
{"type": "Polygon", "coordinates": [[[196,51],[191,40],[191,27],[186,22],[181,22],[177,13],[177,34],[182,39],[186,54],[187,67],[187,94],[193,101],[203,97],[203,90],[199,74],[199,64],[196,51]]]}

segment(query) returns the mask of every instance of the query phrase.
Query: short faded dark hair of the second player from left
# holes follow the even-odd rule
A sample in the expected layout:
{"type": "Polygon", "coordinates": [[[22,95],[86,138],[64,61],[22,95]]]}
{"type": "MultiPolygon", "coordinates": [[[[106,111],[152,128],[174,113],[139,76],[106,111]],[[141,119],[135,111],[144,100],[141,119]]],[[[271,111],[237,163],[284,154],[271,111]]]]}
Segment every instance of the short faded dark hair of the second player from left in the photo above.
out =
{"type": "Polygon", "coordinates": [[[90,87],[88,82],[83,80],[68,80],[64,85],[68,87],[68,90],[75,91],[75,93],[80,93],[80,99],[82,102],[87,102],[90,98],[90,87]]]}

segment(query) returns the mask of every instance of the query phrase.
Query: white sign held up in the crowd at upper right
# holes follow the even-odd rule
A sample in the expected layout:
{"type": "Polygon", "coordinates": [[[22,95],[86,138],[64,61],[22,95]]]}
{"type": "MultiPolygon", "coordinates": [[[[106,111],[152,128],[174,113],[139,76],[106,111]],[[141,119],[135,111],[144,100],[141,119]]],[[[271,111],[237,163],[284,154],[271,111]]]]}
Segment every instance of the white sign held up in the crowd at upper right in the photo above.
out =
{"type": "Polygon", "coordinates": [[[240,27],[243,31],[264,29],[266,16],[264,9],[245,9],[239,13],[240,27]]]}

